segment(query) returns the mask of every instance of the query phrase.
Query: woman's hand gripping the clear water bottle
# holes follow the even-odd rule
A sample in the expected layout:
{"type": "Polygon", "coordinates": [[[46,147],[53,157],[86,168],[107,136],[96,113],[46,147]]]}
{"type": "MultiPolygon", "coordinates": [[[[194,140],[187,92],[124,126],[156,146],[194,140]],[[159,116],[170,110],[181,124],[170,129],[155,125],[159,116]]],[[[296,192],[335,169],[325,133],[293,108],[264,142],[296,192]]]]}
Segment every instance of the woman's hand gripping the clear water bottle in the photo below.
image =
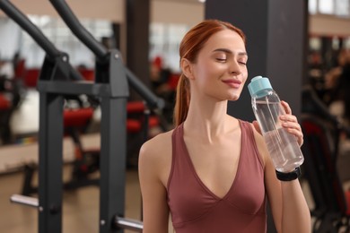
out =
{"type": "MultiPolygon", "coordinates": [[[[302,134],[302,127],[298,123],[298,119],[296,116],[292,115],[292,109],[289,107],[289,104],[285,101],[281,101],[282,107],[284,108],[285,115],[280,116],[280,120],[282,121],[282,126],[290,133],[293,134],[299,146],[302,146],[303,140],[303,134],[302,134]]],[[[255,129],[258,131],[259,134],[261,134],[260,126],[258,125],[258,121],[253,121],[253,125],[255,129]]]]}

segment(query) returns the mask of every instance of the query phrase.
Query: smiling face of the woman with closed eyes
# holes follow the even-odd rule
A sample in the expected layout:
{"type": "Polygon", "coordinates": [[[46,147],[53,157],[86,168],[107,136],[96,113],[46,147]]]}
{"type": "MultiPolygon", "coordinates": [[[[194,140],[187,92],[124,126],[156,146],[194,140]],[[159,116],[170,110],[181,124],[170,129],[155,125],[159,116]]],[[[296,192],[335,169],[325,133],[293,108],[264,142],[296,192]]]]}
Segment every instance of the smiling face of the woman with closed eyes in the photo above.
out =
{"type": "Polygon", "coordinates": [[[247,52],[241,36],[221,30],[206,41],[192,64],[191,92],[218,100],[239,99],[248,77],[247,52]]]}

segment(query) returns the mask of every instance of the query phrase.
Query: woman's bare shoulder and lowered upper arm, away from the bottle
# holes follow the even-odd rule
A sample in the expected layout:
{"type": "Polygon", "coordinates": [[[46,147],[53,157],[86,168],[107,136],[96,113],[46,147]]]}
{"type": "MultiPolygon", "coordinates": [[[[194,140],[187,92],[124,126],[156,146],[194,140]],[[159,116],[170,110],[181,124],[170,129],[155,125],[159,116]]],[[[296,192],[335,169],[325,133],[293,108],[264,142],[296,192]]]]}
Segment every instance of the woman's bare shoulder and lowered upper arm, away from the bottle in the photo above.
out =
{"type": "Polygon", "coordinates": [[[168,232],[167,184],[171,171],[171,135],[158,134],[140,150],[138,177],[143,200],[144,232],[168,232]]]}

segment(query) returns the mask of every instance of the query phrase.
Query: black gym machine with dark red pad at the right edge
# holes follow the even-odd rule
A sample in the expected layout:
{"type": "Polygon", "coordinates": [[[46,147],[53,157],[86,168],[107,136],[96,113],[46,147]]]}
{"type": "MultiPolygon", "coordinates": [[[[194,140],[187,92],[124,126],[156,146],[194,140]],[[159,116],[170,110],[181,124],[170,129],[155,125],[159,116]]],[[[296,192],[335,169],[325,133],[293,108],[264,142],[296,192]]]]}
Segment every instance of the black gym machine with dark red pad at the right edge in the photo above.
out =
{"type": "Polygon", "coordinates": [[[309,181],[315,203],[311,216],[315,233],[349,232],[350,211],[337,172],[341,132],[349,133],[337,117],[331,116],[311,87],[302,90],[301,125],[304,134],[304,177],[309,181]],[[345,231],[339,231],[340,229],[345,231]]]}

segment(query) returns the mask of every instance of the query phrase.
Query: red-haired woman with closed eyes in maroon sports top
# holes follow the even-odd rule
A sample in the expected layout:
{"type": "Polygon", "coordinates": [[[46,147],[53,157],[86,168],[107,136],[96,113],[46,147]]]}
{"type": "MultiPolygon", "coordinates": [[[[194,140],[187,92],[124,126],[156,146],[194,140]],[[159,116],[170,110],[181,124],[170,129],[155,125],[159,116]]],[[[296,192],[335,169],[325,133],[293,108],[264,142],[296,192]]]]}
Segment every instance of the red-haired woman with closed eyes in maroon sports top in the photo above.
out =
{"type": "MultiPolygon", "coordinates": [[[[267,198],[278,232],[311,232],[298,179],[281,182],[258,124],[227,115],[248,77],[245,36],[228,22],[207,20],[179,47],[182,74],[175,129],[145,142],[139,178],[144,233],[266,232],[267,198]]],[[[302,145],[288,104],[284,127],[302,145]]]]}

